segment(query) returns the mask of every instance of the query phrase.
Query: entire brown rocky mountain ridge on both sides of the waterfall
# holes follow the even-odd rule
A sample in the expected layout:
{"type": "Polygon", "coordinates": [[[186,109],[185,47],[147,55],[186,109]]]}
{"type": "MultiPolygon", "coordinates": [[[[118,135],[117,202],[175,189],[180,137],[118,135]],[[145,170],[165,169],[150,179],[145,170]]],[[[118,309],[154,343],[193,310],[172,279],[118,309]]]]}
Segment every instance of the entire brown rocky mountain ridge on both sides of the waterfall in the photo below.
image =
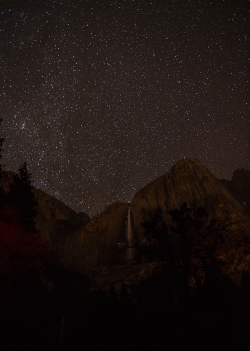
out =
{"type": "MultiPolygon", "coordinates": [[[[2,183],[10,183],[12,177],[6,173],[4,178],[2,183]]],[[[117,284],[120,284],[121,276],[137,284],[146,266],[153,264],[147,255],[144,258],[146,263],[136,262],[146,240],[144,224],[152,221],[154,214],[160,213],[162,223],[170,228],[173,225],[170,212],[186,203],[192,211],[204,208],[206,225],[215,221],[218,230],[223,232],[223,255],[228,261],[224,264],[223,274],[230,275],[236,284],[240,284],[242,272],[250,271],[250,256],[243,254],[243,251],[250,250],[249,179],[249,171],[242,168],[234,171],[231,181],[219,180],[198,160],[185,158],[172,166],[168,173],[140,189],[131,204],[114,203],[91,219],[34,189],[39,203],[37,229],[50,242],[63,265],[94,277],[97,286],[100,281],[109,286],[109,279],[114,283],[115,274],[117,284]],[[126,258],[130,246],[126,237],[130,206],[134,237],[131,245],[135,255],[132,260],[126,258]],[[232,244],[228,237],[232,238],[232,244]],[[123,274],[122,270],[126,273],[123,274]]]]}

